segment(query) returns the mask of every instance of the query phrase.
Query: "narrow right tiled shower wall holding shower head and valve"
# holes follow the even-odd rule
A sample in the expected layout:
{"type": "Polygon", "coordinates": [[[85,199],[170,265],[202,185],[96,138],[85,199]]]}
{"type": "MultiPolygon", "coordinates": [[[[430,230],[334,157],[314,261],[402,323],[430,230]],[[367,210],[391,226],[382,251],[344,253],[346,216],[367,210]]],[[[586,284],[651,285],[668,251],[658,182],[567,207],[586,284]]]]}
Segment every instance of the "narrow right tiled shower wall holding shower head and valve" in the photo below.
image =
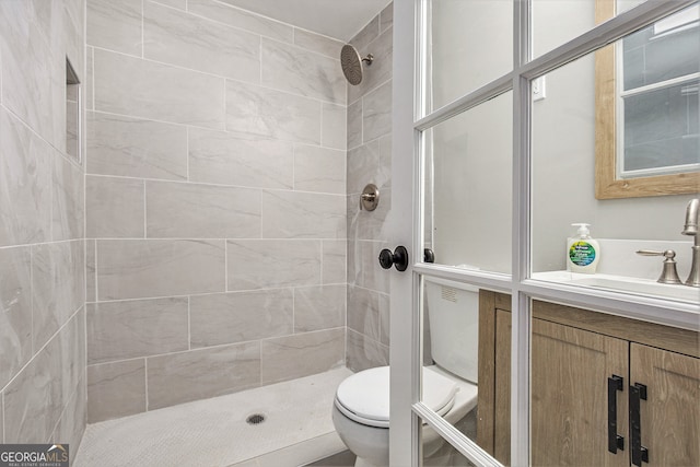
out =
{"type": "Polygon", "coordinates": [[[362,82],[348,85],[347,203],[348,292],[347,366],[353,371],[386,365],[389,359],[389,275],[377,257],[388,243],[386,218],[392,208],[393,3],[349,43],[362,57],[374,56],[362,82]],[[380,189],[380,205],[360,210],[366,184],[380,189]]]}

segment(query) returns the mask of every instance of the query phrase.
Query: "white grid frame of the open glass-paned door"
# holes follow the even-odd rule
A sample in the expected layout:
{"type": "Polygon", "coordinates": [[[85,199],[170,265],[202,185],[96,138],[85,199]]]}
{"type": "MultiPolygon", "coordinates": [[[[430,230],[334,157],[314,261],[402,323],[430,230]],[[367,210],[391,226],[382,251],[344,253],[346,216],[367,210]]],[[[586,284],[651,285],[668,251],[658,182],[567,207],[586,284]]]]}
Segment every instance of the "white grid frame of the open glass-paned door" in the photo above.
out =
{"type": "MultiPolygon", "coordinates": [[[[410,128],[404,115],[394,109],[394,160],[398,161],[400,153],[406,157],[408,142],[413,144],[412,163],[413,194],[420,192],[422,167],[420,160],[422,135],[425,130],[466,112],[472,107],[501,95],[504,92],[513,92],[513,231],[512,231],[512,275],[489,273],[483,271],[456,271],[441,265],[415,262],[409,269],[418,284],[421,275],[442,277],[463,281],[465,283],[490,290],[503,291],[512,296],[512,377],[511,377],[511,462],[513,466],[529,465],[529,347],[530,347],[530,302],[532,299],[555,301],[572,306],[584,306],[600,311],[615,312],[618,315],[638,319],[649,319],[670,326],[679,326],[689,329],[699,329],[697,306],[692,304],[667,302],[654,297],[628,295],[622,292],[600,292],[584,288],[556,285],[552,283],[536,281],[529,278],[530,271],[530,83],[534,79],[544,75],[559,67],[574,61],[596,49],[611,44],[622,36],[643,27],[654,21],[672,14],[685,7],[695,3],[696,0],[650,0],[626,11],[609,21],[595,26],[574,39],[550,50],[549,52],[532,59],[530,47],[530,11],[534,0],[513,0],[513,70],[485,84],[483,86],[460,96],[454,102],[432,112],[427,110],[427,63],[429,54],[425,40],[428,31],[427,15],[431,0],[395,0],[395,30],[394,44],[394,102],[413,98],[413,122],[410,128]],[[413,22],[401,24],[401,22],[413,22]],[[411,34],[411,32],[415,32],[411,34]],[[401,47],[406,40],[413,42],[412,48],[401,47]],[[409,56],[412,50],[412,56],[409,56]],[[412,65],[412,70],[409,66],[412,65]],[[405,78],[399,78],[405,77],[405,78]],[[408,141],[408,142],[407,142],[408,141]],[[401,143],[402,142],[402,143],[401,143]]],[[[402,106],[404,112],[407,106],[402,106]]],[[[404,161],[408,164],[408,161],[404,161]]],[[[422,227],[420,200],[416,197],[407,202],[413,206],[415,225],[412,229],[413,252],[422,252],[422,227]]],[[[402,400],[411,400],[413,418],[410,430],[411,439],[408,440],[408,431],[401,436],[392,436],[392,465],[420,464],[419,424],[417,419],[427,421],[435,431],[447,440],[455,448],[468,457],[476,465],[500,465],[495,459],[486,454],[472,441],[468,440],[442,418],[436,416],[427,406],[420,402],[420,320],[417,303],[418,293],[413,291],[411,319],[412,336],[410,349],[404,348],[400,359],[410,361],[410,374],[413,387],[410,392],[392,388],[392,398],[402,395],[402,400]],[[407,394],[410,393],[410,397],[407,394]],[[407,442],[410,441],[410,442],[407,442]],[[397,455],[410,446],[408,453],[397,455]]],[[[393,312],[394,314],[394,312],[393,312]]],[[[394,328],[394,322],[393,326],[394,328]]],[[[392,330],[394,336],[394,330],[392,330]]],[[[398,335],[398,332],[397,332],[398,335]]],[[[395,364],[395,342],[392,339],[392,366],[395,364]]],[[[398,347],[398,346],[397,346],[398,347]]],[[[398,363],[398,362],[397,362],[398,363]]],[[[397,366],[401,366],[398,363],[397,366]]],[[[404,366],[405,367],[405,366],[404,366]]],[[[392,402],[394,405],[394,401],[392,402]]],[[[393,409],[394,410],[394,409],[393,409]]],[[[392,416],[393,417],[393,416],[392,416]]]]}

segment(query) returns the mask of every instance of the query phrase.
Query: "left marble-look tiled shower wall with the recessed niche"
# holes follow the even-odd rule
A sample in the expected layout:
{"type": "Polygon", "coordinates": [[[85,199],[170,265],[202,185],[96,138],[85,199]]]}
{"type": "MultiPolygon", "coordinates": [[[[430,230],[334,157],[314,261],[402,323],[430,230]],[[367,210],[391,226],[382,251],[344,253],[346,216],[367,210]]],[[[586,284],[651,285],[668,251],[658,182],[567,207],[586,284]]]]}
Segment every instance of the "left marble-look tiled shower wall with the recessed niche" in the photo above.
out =
{"type": "Polygon", "coordinates": [[[0,442],[85,428],[84,170],[67,153],[66,59],[84,0],[0,2],[0,442]]]}

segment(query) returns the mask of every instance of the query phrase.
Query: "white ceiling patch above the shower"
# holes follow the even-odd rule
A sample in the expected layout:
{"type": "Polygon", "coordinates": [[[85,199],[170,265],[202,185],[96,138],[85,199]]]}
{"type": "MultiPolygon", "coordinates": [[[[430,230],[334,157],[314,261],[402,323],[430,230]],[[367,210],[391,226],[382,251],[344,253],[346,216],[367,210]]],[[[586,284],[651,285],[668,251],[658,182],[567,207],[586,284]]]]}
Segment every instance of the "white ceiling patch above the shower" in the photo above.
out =
{"type": "Polygon", "coordinates": [[[315,33],[349,40],[390,0],[221,0],[315,33]]]}

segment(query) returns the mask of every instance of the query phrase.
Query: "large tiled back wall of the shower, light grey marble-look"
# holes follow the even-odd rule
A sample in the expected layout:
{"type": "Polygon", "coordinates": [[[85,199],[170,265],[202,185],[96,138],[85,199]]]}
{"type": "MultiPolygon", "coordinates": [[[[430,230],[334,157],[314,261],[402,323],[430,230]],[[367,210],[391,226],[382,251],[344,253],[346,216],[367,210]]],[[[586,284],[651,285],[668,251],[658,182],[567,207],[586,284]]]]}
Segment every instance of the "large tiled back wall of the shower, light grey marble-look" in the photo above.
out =
{"type": "Polygon", "coordinates": [[[86,10],[89,421],[343,365],[342,43],[213,0],[86,10]]]}

